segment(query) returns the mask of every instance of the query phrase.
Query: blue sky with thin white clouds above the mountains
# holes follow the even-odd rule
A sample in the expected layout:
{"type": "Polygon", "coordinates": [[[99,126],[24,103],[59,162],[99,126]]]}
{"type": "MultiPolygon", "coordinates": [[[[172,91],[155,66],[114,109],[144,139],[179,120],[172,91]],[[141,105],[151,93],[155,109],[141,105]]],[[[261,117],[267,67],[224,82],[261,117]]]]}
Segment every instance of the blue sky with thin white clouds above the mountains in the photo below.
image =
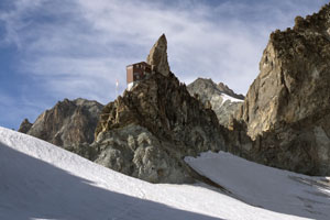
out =
{"type": "Polygon", "coordinates": [[[162,33],[172,72],[246,94],[270,33],[326,0],[1,0],[0,125],[34,122],[64,98],[108,103],[125,66],[162,33]]]}

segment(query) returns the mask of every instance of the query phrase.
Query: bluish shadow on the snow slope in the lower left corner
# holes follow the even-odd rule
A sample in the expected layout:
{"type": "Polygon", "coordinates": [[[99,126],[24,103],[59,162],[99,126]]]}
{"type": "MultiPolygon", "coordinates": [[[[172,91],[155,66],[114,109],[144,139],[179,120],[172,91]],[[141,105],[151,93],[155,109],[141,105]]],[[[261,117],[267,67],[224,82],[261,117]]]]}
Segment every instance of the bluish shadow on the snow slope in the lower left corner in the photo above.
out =
{"type": "Polygon", "coordinates": [[[1,143],[0,155],[0,219],[219,219],[92,186],[1,143]]]}

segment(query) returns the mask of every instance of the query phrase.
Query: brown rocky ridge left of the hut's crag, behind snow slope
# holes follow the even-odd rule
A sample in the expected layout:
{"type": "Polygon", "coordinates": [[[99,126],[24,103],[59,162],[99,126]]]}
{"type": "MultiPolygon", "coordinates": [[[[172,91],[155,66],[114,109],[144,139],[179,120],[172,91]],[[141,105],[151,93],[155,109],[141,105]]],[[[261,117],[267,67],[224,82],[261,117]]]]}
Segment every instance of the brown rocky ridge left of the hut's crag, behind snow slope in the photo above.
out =
{"type": "Polygon", "coordinates": [[[44,111],[33,124],[24,120],[20,131],[90,158],[92,150],[89,145],[94,142],[102,107],[97,101],[64,99],[44,111]]]}

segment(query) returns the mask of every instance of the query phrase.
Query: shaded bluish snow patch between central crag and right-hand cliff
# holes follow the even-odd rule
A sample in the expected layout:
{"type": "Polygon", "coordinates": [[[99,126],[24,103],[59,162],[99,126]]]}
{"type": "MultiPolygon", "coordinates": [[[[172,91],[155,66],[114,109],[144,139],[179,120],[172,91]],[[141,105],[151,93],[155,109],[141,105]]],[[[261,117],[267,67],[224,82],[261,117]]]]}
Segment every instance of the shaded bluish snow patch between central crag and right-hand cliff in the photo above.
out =
{"type": "Polygon", "coordinates": [[[329,177],[280,170],[224,152],[207,152],[185,161],[248,204],[282,213],[330,219],[329,177]]]}

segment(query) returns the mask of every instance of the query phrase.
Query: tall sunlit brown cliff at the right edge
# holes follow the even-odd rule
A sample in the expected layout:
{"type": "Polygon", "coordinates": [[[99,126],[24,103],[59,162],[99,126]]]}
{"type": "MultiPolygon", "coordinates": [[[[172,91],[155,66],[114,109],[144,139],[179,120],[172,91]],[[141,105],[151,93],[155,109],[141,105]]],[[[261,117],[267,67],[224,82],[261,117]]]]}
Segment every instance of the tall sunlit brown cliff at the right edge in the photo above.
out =
{"type": "Polygon", "coordinates": [[[238,112],[254,161],[330,175],[330,4],[271,34],[238,112]]]}

